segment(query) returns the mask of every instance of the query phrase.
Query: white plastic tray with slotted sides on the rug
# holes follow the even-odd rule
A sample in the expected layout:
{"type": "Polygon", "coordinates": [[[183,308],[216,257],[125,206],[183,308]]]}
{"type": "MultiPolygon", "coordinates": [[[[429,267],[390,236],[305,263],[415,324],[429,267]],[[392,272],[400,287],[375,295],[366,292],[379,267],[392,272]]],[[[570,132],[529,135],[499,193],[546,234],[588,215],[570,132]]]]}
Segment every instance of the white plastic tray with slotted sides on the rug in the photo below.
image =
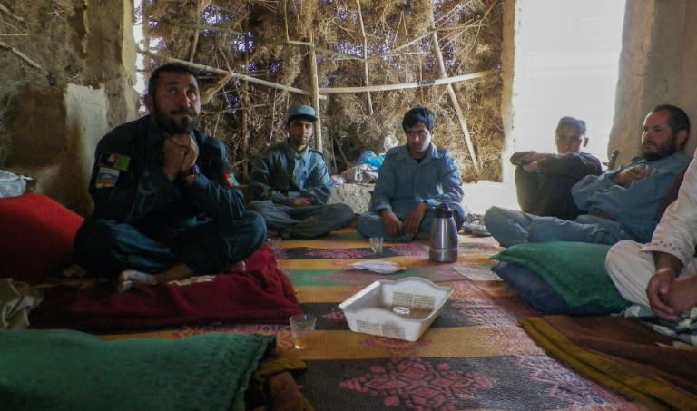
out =
{"type": "Polygon", "coordinates": [[[353,332],[416,341],[440,315],[453,289],[427,279],[380,279],[339,304],[353,332]],[[392,312],[394,306],[429,310],[426,318],[412,319],[392,312]]]}

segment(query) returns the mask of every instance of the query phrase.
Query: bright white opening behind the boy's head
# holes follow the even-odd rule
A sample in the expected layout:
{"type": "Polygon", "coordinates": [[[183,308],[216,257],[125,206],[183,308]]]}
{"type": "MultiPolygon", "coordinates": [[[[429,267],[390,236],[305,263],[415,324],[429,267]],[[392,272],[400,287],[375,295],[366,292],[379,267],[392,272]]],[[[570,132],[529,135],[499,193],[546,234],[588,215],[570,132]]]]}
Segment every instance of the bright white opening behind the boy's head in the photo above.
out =
{"type": "Polygon", "coordinates": [[[511,152],[555,152],[556,123],[570,115],[587,124],[584,150],[608,161],[624,3],[517,0],[511,152]]]}

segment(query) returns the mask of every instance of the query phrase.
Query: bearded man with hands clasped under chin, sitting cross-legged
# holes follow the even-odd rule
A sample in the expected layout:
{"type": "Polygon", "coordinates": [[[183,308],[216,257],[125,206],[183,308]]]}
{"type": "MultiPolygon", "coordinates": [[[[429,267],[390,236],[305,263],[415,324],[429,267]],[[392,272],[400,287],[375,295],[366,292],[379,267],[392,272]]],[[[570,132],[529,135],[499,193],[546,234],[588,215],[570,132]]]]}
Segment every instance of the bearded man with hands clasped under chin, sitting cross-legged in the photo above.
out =
{"type": "Polygon", "coordinates": [[[242,269],[266,224],[245,209],[222,142],[196,129],[199,86],[182,64],[157,68],[150,112],[97,145],[89,191],[93,218],[74,243],[74,262],[125,290],[242,269]]]}

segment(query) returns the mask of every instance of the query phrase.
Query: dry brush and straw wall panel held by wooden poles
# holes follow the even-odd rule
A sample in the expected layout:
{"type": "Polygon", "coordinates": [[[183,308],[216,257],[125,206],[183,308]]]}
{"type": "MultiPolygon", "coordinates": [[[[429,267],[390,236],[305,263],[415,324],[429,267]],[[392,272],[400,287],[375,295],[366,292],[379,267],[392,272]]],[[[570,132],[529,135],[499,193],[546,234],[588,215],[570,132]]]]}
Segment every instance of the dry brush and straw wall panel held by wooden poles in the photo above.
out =
{"type": "MultiPolygon", "coordinates": [[[[466,181],[476,181],[500,179],[501,9],[501,0],[143,0],[140,13],[149,52],[159,56],[149,66],[172,57],[219,69],[201,71],[208,79],[203,89],[231,71],[311,94],[310,52],[320,91],[491,73],[451,86],[321,93],[319,104],[323,151],[335,172],[364,149],[381,152],[389,134],[403,141],[402,114],[420,103],[437,114],[434,141],[454,152],[466,181]]],[[[204,126],[230,144],[241,164],[285,138],[291,103],[312,103],[309,95],[239,77],[216,87],[203,107],[204,126]]]]}

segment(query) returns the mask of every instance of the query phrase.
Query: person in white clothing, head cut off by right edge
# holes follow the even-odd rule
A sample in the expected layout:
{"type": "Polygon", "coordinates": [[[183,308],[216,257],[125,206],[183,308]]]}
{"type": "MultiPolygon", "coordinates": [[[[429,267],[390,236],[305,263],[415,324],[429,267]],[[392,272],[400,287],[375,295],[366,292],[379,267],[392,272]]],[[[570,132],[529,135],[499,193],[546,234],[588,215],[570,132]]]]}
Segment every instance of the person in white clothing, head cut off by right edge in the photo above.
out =
{"type": "Polygon", "coordinates": [[[676,321],[697,306],[697,163],[692,161],[678,198],[663,213],[651,242],[620,241],[605,269],[624,298],[676,321]]]}

